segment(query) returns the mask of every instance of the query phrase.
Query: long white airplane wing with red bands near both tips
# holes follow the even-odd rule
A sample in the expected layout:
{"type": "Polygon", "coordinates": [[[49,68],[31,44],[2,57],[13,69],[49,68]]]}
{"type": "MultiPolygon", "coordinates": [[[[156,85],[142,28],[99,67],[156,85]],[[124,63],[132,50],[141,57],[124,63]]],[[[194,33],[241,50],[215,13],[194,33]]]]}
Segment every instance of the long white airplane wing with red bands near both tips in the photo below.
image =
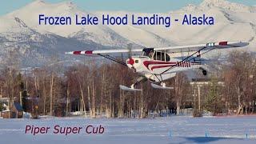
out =
{"type": "Polygon", "coordinates": [[[129,53],[129,52],[142,52],[143,50],[166,50],[168,53],[181,53],[199,50],[213,50],[213,49],[228,49],[235,47],[242,47],[249,45],[248,42],[210,42],[206,44],[188,45],[188,46],[168,46],[157,48],[144,48],[144,49],[121,49],[121,50],[84,50],[84,51],[70,51],[66,54],[114,54],[114,53],[129,53]]]}

